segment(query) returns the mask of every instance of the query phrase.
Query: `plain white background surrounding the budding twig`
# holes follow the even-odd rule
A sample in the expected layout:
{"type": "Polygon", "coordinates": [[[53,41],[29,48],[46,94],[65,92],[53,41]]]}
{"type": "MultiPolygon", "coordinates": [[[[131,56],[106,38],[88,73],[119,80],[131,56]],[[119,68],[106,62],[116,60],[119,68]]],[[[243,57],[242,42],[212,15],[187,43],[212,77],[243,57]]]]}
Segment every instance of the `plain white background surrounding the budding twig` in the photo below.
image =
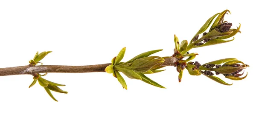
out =
{"type": "Polygon", "coordinates": [[[123,61],[148,50],[171,56],[173,35],[190,40],[212,15],[225,9],[241,34],[233,42],[192,49],[193,61],[238,58],[249,64],[248,77],[232,86],[185,70],[181,83],[174,67],[148,75],[167,89],[124,76],[128,90],[111,74],[49,73],[44,78],[68,94],[38,83],[31,75],[0,77],[0,128],[255,128],[255,7],[246,0],[1,0],[0,67],[27,65],[37,51],[52,50],[46,65],[110,63],[126,47],[123,61]]]}

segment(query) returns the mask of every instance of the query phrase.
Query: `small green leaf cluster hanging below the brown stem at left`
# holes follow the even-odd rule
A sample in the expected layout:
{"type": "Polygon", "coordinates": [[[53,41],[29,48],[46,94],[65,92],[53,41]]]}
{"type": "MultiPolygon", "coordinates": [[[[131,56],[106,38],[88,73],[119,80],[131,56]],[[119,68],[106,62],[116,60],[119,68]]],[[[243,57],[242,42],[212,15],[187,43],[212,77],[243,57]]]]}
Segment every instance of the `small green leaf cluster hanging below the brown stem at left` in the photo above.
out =
{"type": "MultiPolygon", "coordinates": [[[[45,74],[46,75],[46,74],[45,74]]],[[[29,88],[34,86],[35,83],[38,81],[38,83],[44,87],[44,89],[46,90],[46,92],[48,93],[48,95],[50,97],[52,97],[53,100],[55,101],[58,101],[55,99],[55,97],[53,97],[52,93],[50,90],[52,91],[55,91],[55,92],[59,92],[59,93],[65,93],[67,94],[68,92],[67,91],[63,91],[62,89],[60,89],[58,86],[66,86],[64,84],[58,84],[58,83],[54,83],[54,82],[51,82],[51,81],[48,81],[44,78],[42,78],[41,76],[44,76],[44,75],[40,75],[40,74],[37,74],[34,76],[34,81],[30,84],[29,88]]]]}

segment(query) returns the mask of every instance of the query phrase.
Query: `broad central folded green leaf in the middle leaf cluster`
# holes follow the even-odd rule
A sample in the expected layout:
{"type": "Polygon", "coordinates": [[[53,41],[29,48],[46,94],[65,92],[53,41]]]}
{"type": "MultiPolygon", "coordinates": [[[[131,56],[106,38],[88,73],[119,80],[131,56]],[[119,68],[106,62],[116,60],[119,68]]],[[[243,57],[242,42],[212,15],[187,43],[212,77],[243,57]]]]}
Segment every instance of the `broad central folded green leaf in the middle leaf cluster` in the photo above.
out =
{"type": "Polygon", "coordinates": [[[136,72],[147,72],[153,70],[163,64],[164,59],[159,56],[148,56],[136,59],[132,62],[131,66],[127,67],[136,72]]]}

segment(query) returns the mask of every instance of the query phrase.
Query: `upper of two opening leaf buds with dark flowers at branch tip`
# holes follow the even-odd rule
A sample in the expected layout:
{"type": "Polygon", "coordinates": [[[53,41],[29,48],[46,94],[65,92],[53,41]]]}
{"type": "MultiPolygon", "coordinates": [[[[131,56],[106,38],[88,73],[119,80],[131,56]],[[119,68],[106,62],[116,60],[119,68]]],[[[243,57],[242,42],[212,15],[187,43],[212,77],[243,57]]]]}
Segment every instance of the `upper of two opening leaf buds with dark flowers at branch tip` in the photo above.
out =
{"type": "Polygon", "coordinates": [[[196,47],[217,45],[217,44],[233,41],[235,38],[230,40],[224,40],[224,39],[228,39],[232,36],[235,36],[236,33],[238,32],[240,33],[239,30],[240,30],[241,24],[236,29],[231,29],[232,23],[224,21],[224,16],[225,14],[227,14],[227,12],[230,13],[229,10],[224,10],[221,13],[217,13],[212,17],[210,17],[204,23],[204,25],[199,29],[199,31],[195,34],[195,36],[191,39],[188,45],[187,51],[196,47]],[[216,19],[212,23],[215,17],[216,19]],[[211,23],[212,23],[212,26],[210,27],[211,23]],[[208,28],[209,28],[209,31],[205,32],[208,28]],[[203,33],[203,35],[201,38],[198,39],[201,33],[203,33]]]}

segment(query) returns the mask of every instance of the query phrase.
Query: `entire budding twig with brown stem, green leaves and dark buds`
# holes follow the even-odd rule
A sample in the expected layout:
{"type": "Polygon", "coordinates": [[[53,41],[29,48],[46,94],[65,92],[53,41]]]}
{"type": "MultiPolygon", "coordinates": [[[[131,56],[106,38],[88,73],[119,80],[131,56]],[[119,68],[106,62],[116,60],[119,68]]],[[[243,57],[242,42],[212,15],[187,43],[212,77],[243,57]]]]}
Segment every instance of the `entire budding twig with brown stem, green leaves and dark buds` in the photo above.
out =
{"type": "MultiPolygon", "coordinates": [[[[249,65],[237,60],[236,58],[224,58],[216,61],[211,61],[201,65],[198,61],[192,60],[198,56],[198,53],[189,53],[189,50],[197,47],[205,47],[211,45],[219,45],[233,41],[233,36],[240,32],[241,25],[239,27],[232,28],[232,23],[224,20],[225,14],[230,13],[229,10],[224,10],[210,17],[199,31],[192,37],[190,42],[183,40],[179,42],[179,39],[174,35],[175,48],[172,56],[151,56],[154,53],[162,50],[151,50],[145,53],[141,53],[129,61],[122,62],[125,56],[126,48],[122,48],[118,55],[114,57],[109,64],[96,64],[86,66],[61,66],[61,65],[40,65],[37,66],[40,61],[52,51],[44,51],[40,54],[38,52],[35,57],[29,61],[28,66],[0,68],[0,76],[3,75],[20,75],[29,74],[33,75],[33,82],[29,86],[32,87],[38,81],[38,83],[44,87],[46,92],[53,100],[58,101],[53,97],[51,91],[59,93],[68,93],[63,91],[58,86],[65,86],[63,84],[54,83],[42,78],[47,72],[65,72],[65,73],[81,73],[81,72],[107,72],[111,73],[119,83],[121,83],[124,89],[127,89],[125,79],[121,74],[124,74],[128,78],[137,79],[145,83],[151,84],[156,87],[165,88],[159,83],[151,80],[146,74],[154,74],[162,72],[163,67],[174,66],[176,67],[178,74],[178,81],[181,82],[183,71],[188,70],[190,75],[203,74],[207,78],[210,78],[218,83],[224,85],[232,85],[233,83],[227,83],[219,75],[223,75],[224,78],[231,80],[242,80],[247,77],[248,73],[244,75],[244,70],[249,65]],[[232,38],[233,39],[229,39],[232,38]],[[41,75],[40,73],[45,73],[41,75]]],[[[206,47],[207,48],[207,47],[206,47]]],[[[42,64],[42,63],[41,63],[42,64]]]]}

